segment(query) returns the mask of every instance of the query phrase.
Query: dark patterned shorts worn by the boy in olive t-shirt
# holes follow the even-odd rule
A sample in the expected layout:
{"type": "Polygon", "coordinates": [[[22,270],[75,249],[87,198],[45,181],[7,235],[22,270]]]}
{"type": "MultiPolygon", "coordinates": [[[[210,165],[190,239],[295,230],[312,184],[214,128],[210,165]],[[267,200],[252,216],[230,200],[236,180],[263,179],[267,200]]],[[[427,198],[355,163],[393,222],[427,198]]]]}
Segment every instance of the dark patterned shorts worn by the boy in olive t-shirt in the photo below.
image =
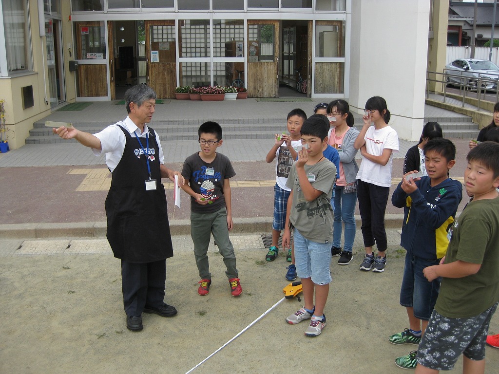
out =
{"type": "Polygon", "coordinates": [[[449,318],[436,310],[419,343],[418,364],[433,370],[452,370],[463,354],[473,361],[485,359],[485,341],[498,303],[470,318],[449,318]]]}

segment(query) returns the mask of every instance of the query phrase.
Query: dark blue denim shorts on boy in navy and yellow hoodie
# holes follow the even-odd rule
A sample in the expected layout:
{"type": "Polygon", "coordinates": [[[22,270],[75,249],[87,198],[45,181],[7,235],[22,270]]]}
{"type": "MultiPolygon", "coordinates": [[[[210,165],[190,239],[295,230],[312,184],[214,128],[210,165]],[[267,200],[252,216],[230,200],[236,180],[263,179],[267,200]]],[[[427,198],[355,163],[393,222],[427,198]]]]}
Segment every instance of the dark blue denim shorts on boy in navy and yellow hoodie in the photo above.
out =
{"type": "Polygon", "coordinates": [[[437,302],[442,278],[428,282],[423,269],[438,265],[439,260],[427,260],[418,256],[406,254],[404,276],[400,288],[400,305],[413,307],[414,317],[428,321],[437,302]]]}

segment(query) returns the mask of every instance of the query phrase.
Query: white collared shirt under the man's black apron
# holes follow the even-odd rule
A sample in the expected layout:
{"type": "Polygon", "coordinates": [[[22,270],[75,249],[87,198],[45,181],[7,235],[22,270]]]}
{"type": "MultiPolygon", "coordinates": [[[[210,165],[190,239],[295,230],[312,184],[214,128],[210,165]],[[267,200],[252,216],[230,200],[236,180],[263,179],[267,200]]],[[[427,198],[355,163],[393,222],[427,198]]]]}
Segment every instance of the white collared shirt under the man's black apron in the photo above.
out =
{"type": "MultiPolygon", "coordinates": [[[[106,165],[111,173],[116,166],[118,166],[118,163],[123,157],[126,143],[125,134],[123,134],[123,131],[121,131],[121,129],[116,125],[120,125],[124,129],[128,130],[133,138],[135,138],[134,132],[136,132],[139,138],[145,138],[149,134],[149,129],[146,124],[144,124],[144,132],[140,134],[140,129],[128,116],[124,121],[116,122],[114,125],[108,126],[104,130],[94,134],[94,136],[100,140],[102,150],[92,148],[92,152],[95,156],[100,156],[102,153],[106,154],[106,165]]],[[[163,148],[161,148],[158,133],[155,132],[155,134],[156,142],[159,147],[159,163],[164,164],[163,148]]]]}

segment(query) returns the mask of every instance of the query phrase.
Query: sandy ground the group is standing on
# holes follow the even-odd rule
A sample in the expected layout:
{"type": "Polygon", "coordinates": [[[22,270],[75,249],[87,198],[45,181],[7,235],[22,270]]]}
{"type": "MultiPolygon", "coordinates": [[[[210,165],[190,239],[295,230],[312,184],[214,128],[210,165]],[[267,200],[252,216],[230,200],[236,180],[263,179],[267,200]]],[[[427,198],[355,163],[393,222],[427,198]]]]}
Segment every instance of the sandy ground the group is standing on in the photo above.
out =
{"type": "MultiPolygon", "coordinates": [[[[398,233],[390,229],[388,234],[384,273],[359,270],[361,235],[350,265],[332,260],[327,325],[319,337],[303,335],[306,322],[284,321],[303,301],[284,300],[192,373],[404,372],[394,359],[415,346],[392,345],[388,336],[407,327],[398,303],[405,254],[396,245],[398,233]]],[[[21,254],[27,242],[1,240],[0,373],[187,373],[279,301],[288,283],[284,254],[266,263],[266,250],[254,245],[255,235],[234,241],[240,297],[231,296],[213,245],[213,284],[208,296],[199,296],[191,239],[174,237],[165,300],[179,313],[173,318],[143,314],[144,330],[133,333],[125,325],[119,260],[105,240],[90,241],[101,253],[77,254],[64,250],[64,241],[30,242],[32,253],[37,246],[41,250],[21,254]]],[[[499,333],[497,316],[490,330],[499,333]]],[[[461,363],[453,372],[461,372],[461,363]]],[[[497,373],[498,367],[499,350],[487,348],[486,373],[497,373]]]]}

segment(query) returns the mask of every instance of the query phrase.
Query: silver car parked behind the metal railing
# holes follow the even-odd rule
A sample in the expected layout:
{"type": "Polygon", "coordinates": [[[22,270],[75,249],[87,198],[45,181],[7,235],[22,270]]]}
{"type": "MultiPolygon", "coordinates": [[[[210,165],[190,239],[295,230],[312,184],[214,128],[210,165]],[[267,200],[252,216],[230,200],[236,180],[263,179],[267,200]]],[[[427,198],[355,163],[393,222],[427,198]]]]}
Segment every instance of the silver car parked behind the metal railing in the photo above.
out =
{"type": "Polygon", "coordinates": [[[445,66],[447,83],[477,85],[478,78],[485,81],[482,87],[495,91],[498,87],[499,67],[489,60],[476,58],[460,58],[445,66]],[[469,78],[468,78],[469,77],[469,78]]]}

